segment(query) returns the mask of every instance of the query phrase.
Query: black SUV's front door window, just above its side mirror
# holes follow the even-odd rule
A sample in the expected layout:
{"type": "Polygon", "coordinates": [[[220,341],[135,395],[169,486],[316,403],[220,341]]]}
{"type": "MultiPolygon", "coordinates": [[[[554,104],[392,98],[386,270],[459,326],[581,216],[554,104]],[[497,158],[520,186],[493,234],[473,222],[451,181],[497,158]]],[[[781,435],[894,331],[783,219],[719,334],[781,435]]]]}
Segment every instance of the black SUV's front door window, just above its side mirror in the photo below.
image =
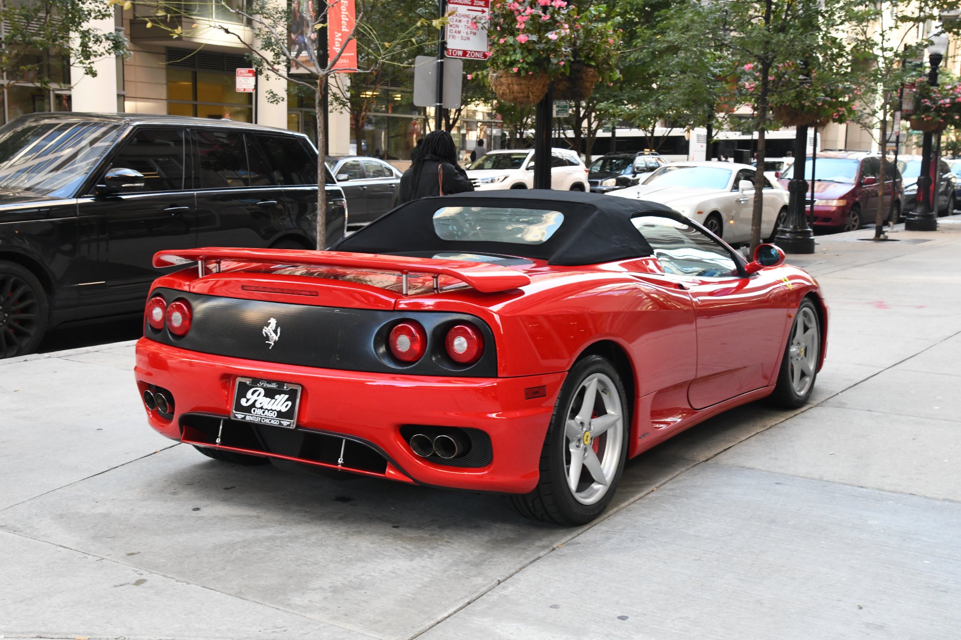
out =
{"type": "Polygon", "coordinates": [[[144,191],[192,188],[181,129],[137,129],[124,141],[111,168],[142,173],[144,191]]]}

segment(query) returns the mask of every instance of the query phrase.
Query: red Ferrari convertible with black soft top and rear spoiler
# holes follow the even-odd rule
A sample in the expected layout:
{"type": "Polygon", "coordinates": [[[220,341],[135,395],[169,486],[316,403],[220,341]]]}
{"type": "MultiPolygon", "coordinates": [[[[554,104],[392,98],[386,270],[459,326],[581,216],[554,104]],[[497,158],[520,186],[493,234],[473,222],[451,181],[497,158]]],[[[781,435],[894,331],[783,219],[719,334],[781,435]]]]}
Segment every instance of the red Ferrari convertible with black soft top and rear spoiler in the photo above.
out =
{"type": "Polygon", "coordinates": [[[644,201],[429,198],[332,251],[160,252],[185,267],[154,283],[136,383],[151,427],[218,460],[502,492],[577,525],[628,457],[807,401],[827,309],[783,259],[644,201]]]}

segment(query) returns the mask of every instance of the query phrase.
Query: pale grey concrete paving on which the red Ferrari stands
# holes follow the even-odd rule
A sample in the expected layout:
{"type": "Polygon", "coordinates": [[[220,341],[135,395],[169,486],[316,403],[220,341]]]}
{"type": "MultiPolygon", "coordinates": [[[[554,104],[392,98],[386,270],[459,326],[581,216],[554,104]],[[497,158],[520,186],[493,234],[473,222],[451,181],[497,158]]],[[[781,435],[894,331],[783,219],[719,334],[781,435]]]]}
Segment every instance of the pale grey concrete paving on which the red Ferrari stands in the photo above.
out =
{"type": "Polygon", "coordinates": [[[0,637],[940,639],[961,628],[961,216],[818,238],[813,402],[628,463],[604,519],[210,460],[133,343],[0,361],[0,637]]]}

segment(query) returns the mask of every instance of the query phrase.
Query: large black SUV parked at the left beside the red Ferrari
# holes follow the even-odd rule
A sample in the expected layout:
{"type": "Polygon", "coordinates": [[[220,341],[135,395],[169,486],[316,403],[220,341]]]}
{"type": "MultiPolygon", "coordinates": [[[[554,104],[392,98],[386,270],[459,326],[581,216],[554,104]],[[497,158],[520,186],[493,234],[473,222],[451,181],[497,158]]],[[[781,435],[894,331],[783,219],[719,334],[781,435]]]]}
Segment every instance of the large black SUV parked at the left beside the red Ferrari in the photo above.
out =
{"type": "MultiPolygon", "coordinates": [[[[327,238],[344,234],[328,172],[327,238]]],[[[142,310],[163,249],[312,249],[317,150],[229,120],[35,113],[0,128],[0,357],[65,322],[142,310]]],[[[179,268],[179,267],[173,267],[179,268]]]]}

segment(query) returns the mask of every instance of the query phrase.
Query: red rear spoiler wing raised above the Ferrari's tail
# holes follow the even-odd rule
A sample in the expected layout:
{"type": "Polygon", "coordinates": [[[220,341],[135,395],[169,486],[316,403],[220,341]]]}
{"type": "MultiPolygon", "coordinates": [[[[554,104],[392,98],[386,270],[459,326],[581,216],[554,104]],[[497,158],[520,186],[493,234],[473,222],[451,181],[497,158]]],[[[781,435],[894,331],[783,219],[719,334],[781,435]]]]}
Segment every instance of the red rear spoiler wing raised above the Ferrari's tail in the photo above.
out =
{"type": "MultiPolygon", "coordinates": [[[[238,262],[269,262],[291,266],[327,266],[377,269],[409,274],[451,276],[484,293],[496,293],[530,284],[526,273],[488,262],[409,258],[382,254],[357,254],[343,251],[308,251],[304,249],[232,249],[205,247],[160,251],[154,255],[155,267],[188,264],[204,260],[231,259],[238,262]]],[[[203,275],[203,272],[201,272],[203,275]]],[[[405,281],[407,279],[405,278],[405,281]]]]}

